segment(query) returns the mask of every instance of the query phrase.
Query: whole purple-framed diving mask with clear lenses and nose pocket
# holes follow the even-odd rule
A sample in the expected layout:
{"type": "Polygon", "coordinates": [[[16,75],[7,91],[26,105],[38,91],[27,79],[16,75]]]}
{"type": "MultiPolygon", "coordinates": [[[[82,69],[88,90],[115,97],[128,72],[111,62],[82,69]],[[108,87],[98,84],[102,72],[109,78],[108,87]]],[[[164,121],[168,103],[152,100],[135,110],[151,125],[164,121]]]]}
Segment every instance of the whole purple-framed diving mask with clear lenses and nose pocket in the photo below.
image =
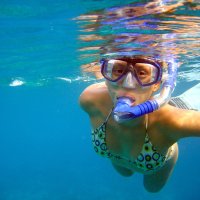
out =
{"type": "Polygon", "coordinates": [[[150,86],[161,80],[162,68],[147,58],[119,58],[101,61],[101,73],[111,82],[123,80],[125,88],[134,88],[134,82],[140,86],[150,86]]]}

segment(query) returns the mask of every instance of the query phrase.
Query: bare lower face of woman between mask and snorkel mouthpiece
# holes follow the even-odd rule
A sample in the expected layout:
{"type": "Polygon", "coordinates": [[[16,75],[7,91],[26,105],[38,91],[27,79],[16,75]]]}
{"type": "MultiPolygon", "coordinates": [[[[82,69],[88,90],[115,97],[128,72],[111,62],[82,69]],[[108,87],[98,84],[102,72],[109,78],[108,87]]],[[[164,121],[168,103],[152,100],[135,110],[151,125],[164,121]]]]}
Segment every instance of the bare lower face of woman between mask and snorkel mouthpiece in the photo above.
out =
{"type": "Polygon", "coordinates": [[[116,103],[118,97],[127,96],[134,100],[134,105],[141,104],[151,99],[154,92],[156,92],[160,87],[160,83],[146,87],[140,86],[136,83],[134,88],[126,88],[123,85],[123,80],[114,84],[106,80],[106,85],[114,104],[116,103]]]}

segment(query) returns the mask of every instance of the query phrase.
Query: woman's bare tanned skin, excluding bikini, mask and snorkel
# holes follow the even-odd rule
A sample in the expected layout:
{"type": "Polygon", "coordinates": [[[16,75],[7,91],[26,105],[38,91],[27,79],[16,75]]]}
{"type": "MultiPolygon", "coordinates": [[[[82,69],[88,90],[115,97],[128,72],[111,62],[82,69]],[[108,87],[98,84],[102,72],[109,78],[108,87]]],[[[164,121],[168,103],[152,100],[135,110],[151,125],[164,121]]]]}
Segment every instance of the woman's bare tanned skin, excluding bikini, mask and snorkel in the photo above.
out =
{"type": "MultiPolygon", "coordinates": [[[[150,99],[158,90],[160,83],[146,89],[137,85],[135,89],[123,88],[119,82],[113,86],[109,81],[97,83],[86,88],[80,96],[80,105],[88,113],[91,125],[95,129],[105,121],[118,96],[129,96],[140,104],[150,99]]],[[[157,150],[166,154],[173,145],[172,158],[159,170],[144,173],[144,187],[149,192],[158,192],[166,184],[173,172],[178,158],[177,141],[181,138],[200,136],[200,112],[183,110],[165,105],[159,110],[125,123],[117,123],[109,118],[106,129],[106,142],[111,153],[128,159],[136,159],[144,144],[145,123],[148,120],[148,135],[157,150]]],[[[112,160],[114,169],[123,176],[143,171],[133,168],[123,160],[112,160]]]]}

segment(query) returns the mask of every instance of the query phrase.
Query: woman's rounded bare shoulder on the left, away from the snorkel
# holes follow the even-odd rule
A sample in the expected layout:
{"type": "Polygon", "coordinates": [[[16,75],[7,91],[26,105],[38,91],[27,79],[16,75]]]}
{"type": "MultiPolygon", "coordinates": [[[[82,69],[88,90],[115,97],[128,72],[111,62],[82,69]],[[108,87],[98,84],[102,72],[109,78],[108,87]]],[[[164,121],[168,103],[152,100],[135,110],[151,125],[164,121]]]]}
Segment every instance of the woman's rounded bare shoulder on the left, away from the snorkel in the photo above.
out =
{"type": "Polygon", "coordinates": [[[101,110],[105,102],[110,101],[107,86],[104,82],[88,86],[80,95],[79,103],[87,113],[101,110]]]}

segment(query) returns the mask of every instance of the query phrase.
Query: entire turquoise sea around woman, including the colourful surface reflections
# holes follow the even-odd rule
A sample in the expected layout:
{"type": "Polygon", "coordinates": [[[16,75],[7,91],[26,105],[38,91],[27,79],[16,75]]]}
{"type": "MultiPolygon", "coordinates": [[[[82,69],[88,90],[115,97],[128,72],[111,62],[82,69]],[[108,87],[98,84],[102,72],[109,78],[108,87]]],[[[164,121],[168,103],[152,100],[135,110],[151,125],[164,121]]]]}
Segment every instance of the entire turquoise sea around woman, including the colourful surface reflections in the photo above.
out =
{"type": "Polygon", "coordinates": [[[151,194],[96,155],[78,105],[112,54],[174,56],[181,94],[200,81],[199,44],[198,0],[1,0],[0,200],[199,200],[199,138],[179,142],[172,177],[151,194]]]}

